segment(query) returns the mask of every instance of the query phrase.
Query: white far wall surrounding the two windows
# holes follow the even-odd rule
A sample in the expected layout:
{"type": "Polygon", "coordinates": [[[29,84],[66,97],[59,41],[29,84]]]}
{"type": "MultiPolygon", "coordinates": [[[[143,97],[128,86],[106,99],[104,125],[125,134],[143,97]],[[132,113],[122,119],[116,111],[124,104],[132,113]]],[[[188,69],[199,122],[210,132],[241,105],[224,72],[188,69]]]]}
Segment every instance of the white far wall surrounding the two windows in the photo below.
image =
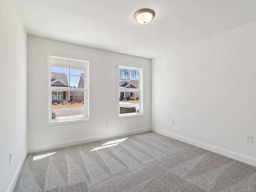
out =
{"type": "Polygon", "coordinates": [[[29,152],[150,130],[150,75],[149,59],[28,36],[29,152]],[[46,53],[92,60],[91,122],[46,126],[46,53]],[[144,69],[144,116],[117,118],[117,63],[144,69]],[[109,125],[105,125],[105,120],[109,120],[109,125]]]}

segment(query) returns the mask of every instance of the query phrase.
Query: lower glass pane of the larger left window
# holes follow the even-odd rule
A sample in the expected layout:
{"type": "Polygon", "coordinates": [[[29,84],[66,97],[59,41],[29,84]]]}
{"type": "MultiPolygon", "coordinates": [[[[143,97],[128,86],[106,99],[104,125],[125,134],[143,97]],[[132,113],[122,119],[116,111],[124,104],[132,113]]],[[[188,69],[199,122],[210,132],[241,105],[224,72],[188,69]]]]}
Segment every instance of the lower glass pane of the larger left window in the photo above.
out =
{"type": "Polygon", "coordinates": [[[70,118],[81,118],[84,117],[84,93],[85,92],[72,92],[69,93],[68,91],[65,92],[58,92],[58,97],[62,97],[62,102],[56,104],[52,99],[52,118],[53,119],[70,119],[70,118]],[[66,94],[66,99],[64,100],[64,94],[66,94]],[[70,98],[68,98],[70,95],[70,98]],[[72,100],[71,100],[72,99],[72,100]],[[69,101],[68,101],[69,100],[69,101]],[[67,102],[66,104],[63,102],[67,102]],[[56,110],[58,109],[58,110],[56,110]]]}

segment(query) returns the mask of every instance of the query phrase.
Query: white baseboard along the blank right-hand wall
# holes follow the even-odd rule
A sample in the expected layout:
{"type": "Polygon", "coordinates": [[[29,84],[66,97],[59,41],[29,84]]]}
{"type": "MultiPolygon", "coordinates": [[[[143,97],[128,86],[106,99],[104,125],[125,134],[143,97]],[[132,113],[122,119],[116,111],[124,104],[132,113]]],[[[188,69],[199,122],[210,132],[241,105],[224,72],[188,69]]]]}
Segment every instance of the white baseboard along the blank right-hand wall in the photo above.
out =
{"type": "Polygon", "coordinates": [[[234,151],[230,151],[230,150],[227,150],[227,149],[224,149],[224,148],[220,148],[220,147],[217,147],[217,146],[214,146],[214,145],[210,145],[210,144],[207,144],[207,143],[204,143],[204,142],[200,142],[200,141],[197,141],[197,140],[194,140],[194,139],[190,139],[190,138],[187,138],[187,137],[184,137],[184,136],[181,136],[181,135],[178,135],[178,134],[174,134],[174,133],[171,133],[171,132],[168,132],[168,131],[165,131],[165,130],[161,130],[161,129],[158,129],[158,128],[151,128],[151,130],[153,132],[162,134],[164,136],[168,136],[170,138],[174,138],[174,139],[192,144],[194,146],[198,146],[200,148],[203,148],[203,149],[206,149],[206,150],[209,150],[209,151],[227,156],[229,158],[232,158],[232,159],[250,164],[252,166],[256,166],[256,158],[246,156],[246,155],[243,155],[243,154],[240,154],[240,153],[237,153],[237,152],[234,152],[234,151]]]}

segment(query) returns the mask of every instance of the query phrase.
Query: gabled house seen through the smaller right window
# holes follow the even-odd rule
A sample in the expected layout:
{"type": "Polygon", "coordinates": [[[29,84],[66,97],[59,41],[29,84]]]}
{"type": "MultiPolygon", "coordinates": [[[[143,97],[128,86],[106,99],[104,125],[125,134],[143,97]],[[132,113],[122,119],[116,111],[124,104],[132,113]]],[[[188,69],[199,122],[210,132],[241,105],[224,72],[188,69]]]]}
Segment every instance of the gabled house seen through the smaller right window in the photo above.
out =
{"type": "Polygon", "coordinates": [[[132,92],[130,90],[132,88],[140,88],[140,81],[139,80],[131,80],[130,82],[127,82],[122,77],[119,77],[119,90],[122,90],[123,92],[120,92],[119,100],[130,100],[130,99],[139,99],[140,95],[139,92],[132,92]]]}

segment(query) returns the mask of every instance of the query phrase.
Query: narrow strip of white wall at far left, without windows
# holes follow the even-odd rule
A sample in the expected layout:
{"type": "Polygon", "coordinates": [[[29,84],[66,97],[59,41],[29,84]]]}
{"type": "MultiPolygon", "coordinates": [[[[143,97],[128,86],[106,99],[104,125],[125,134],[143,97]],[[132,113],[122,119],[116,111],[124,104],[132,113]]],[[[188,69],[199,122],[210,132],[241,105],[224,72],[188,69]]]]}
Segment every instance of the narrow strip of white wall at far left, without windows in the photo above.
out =
{"type": "Polygon", "coordinates": [[[0,1],[0,191],[12,190],[27,152],[27,35],[14,0],[0,1]],[[12,164],[9,153],[13,152],[12,164]]]}

